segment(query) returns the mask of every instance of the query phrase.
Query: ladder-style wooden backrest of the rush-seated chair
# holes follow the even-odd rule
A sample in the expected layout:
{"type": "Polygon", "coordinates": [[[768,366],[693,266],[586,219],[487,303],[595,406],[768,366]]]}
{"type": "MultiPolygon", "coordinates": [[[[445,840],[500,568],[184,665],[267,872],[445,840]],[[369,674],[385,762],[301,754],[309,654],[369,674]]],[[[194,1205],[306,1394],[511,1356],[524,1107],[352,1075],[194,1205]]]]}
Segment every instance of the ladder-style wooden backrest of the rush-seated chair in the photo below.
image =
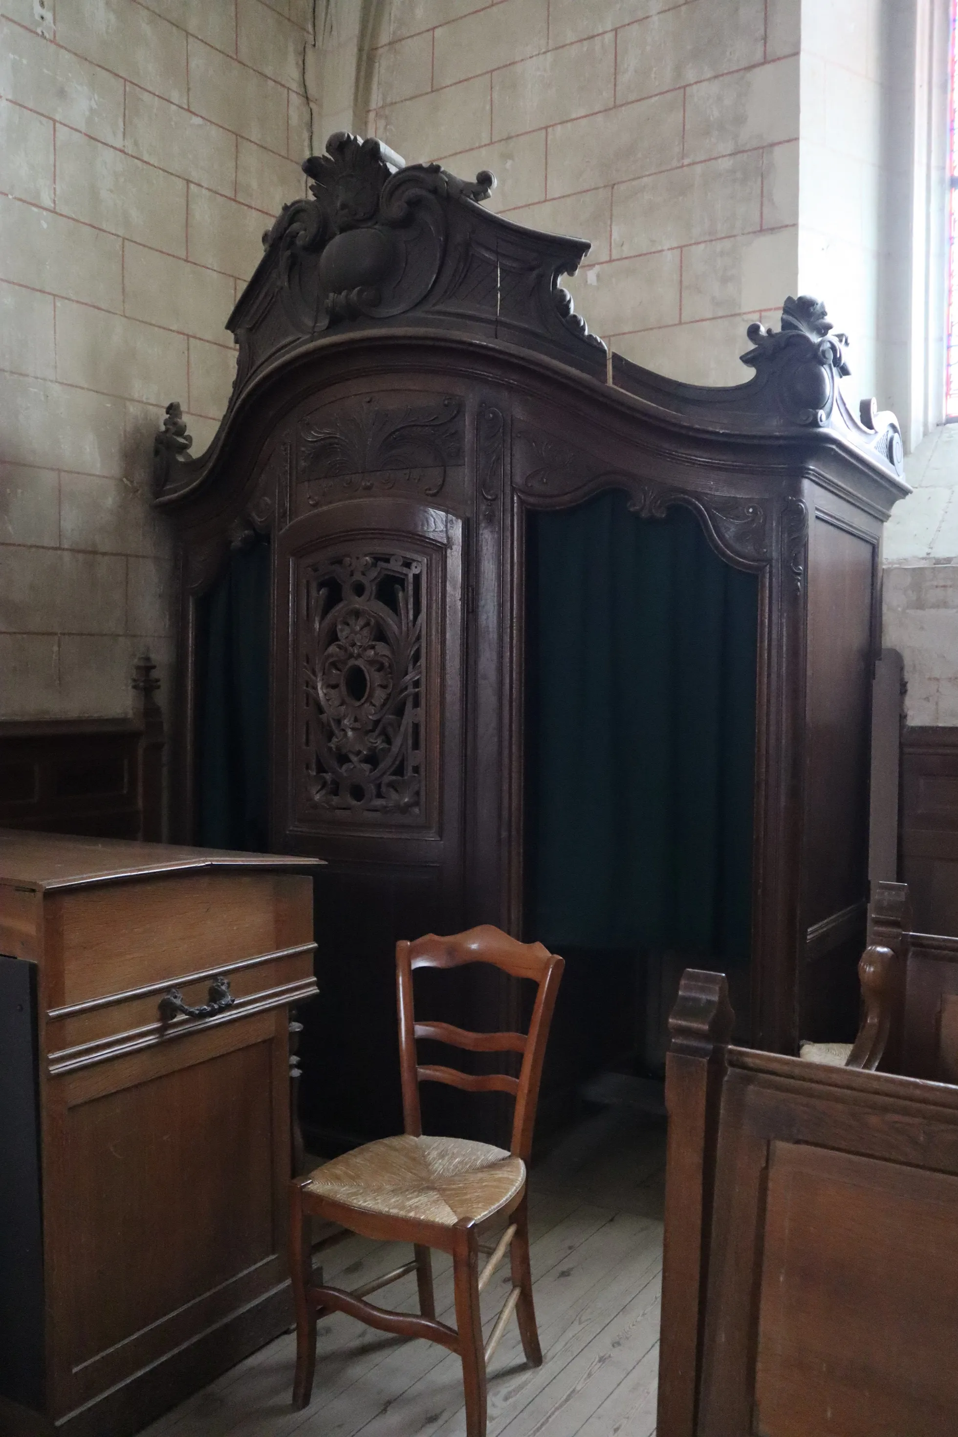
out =
{"type": "Polygon", "coordinates": [[[491,924],[437,937],[429,933],[415,943],[396,944],[396,994],[399,1007],[399,1061],[402,1071],[402,1111],[406,1132],[422,1132],[419,1082],[444,1082],[467,1092],[507,1092],[516,1098],[511,1151],[529,1158],[539,1101],[546,1039],[564,961],[541,943],[520,943],[491,924]],[[451,1023],[417,1023],[412,1003],[414,969],[455,969],[465,963],[488,963],[511,977],[531,979],[539,984],[529,1032],[473,1033],[451,1023]],[[470,1052],[514,1052],[523,1055],[518,1078],[508,1073],[464,1073],[455,1068],[421,1065],[417,1039],[450,1043],[470,1052]]]}

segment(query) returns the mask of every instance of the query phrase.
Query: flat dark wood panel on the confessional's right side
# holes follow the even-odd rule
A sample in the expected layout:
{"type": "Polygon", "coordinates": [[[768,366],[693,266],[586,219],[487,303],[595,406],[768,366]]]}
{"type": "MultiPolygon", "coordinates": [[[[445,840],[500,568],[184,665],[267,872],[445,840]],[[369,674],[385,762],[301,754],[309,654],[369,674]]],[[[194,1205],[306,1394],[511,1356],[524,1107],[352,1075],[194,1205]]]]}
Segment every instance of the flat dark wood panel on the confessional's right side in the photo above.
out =
{"type": "Polygon", "coordinates": [[[876,589],[878,525],[819,497],[809,533],[800,1038],[850,1039],[857,1026],[876,589]]]}

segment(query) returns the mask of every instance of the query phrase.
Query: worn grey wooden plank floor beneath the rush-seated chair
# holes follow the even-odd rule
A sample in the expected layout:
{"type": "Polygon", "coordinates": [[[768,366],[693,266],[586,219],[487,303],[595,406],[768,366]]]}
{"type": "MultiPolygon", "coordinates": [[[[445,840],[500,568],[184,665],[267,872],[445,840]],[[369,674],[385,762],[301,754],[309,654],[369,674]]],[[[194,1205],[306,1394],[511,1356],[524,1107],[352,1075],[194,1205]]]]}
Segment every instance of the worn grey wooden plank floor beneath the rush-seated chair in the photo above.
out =
{"type": "MultiPolygon", "coordinates": [[[[655,1431],[665,1128],[606,1109],[530,1177],[536,1315],[544,1354],[527,1367],[513,1321],[490,1364],[488,1437],[649,1437],[655,1431]]],[[[352,1237],[323,1263],[353,1288],[408,1259],[352,1237]]],[[[434,1253],[437,1311],[454,1322],[448,1257],[434,1253]]],[[[506,1266],[483,1293],[485,1334],[508,1292],[506,1266]]],[[[417,1309],[415,1277],[379,1299],[417,1309]]],[[[319,1323],[316,1385],[290,1407],[292,1334],[225,1372],[142,1437],[462,1437],[460,1359],[343,1315],[319,1323]]]]}

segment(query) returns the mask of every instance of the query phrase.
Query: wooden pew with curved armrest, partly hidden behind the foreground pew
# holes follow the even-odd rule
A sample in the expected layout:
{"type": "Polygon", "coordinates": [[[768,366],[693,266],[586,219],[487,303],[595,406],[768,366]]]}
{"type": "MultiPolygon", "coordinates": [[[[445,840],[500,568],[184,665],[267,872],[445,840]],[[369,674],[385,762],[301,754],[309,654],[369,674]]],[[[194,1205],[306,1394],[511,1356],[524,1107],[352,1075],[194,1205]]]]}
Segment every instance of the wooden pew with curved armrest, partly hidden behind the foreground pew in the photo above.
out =
{"type": "Polygon", "coordinates": [[[853,1045],[803,1043],[839,1066],[958,1082],[958,938],[911,931],[908,884],[878,884],[859,961],[862,1026],[853,1045]]]}

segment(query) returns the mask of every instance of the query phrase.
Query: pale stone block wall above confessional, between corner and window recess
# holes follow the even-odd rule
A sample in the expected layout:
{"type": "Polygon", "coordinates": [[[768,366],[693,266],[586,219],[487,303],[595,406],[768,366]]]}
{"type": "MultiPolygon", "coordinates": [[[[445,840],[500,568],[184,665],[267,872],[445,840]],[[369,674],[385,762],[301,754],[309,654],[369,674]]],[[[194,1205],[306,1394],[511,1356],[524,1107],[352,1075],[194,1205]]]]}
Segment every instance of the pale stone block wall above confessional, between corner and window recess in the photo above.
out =
{"type": "Polygon", "coordinates": [[[619,354],[737,384],[797,277],[799,0],[385,0],[368,132],[488,168],[592,241],[569,289],[619,354]]]}

